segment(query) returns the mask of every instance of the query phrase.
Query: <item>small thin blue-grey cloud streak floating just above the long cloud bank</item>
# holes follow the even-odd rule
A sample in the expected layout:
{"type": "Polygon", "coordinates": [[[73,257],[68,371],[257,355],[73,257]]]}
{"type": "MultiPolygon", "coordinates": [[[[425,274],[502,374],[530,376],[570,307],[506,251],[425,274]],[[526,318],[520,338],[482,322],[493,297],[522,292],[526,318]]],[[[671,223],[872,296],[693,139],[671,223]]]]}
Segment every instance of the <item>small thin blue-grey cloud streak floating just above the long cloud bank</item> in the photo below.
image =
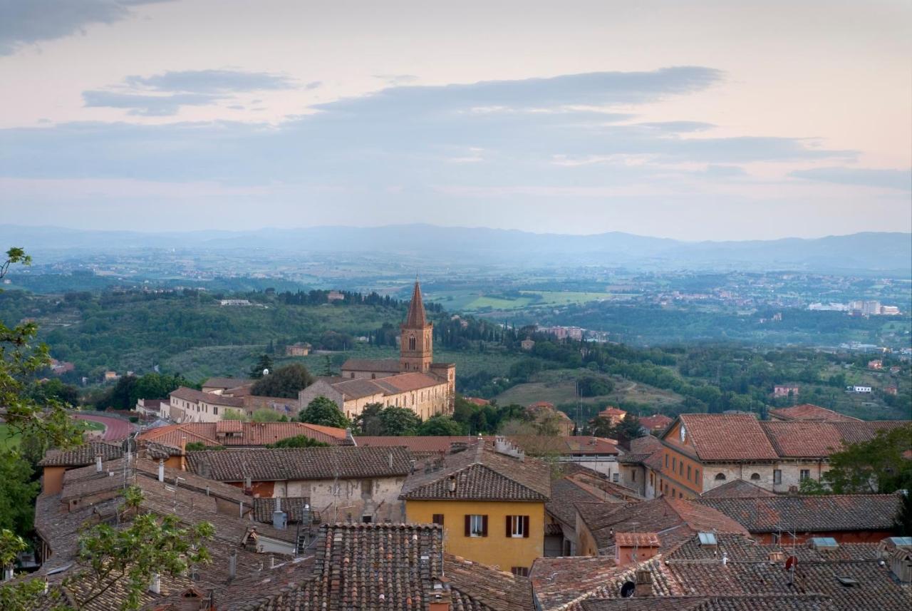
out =
{"type": "Polygon", "coordinates": [[[295,88],[294,79],[284,75],[239,70],[170,71],[151,77],[127,77],[124,83],[130,88],[153,91],[209,94],[295,88]]]}

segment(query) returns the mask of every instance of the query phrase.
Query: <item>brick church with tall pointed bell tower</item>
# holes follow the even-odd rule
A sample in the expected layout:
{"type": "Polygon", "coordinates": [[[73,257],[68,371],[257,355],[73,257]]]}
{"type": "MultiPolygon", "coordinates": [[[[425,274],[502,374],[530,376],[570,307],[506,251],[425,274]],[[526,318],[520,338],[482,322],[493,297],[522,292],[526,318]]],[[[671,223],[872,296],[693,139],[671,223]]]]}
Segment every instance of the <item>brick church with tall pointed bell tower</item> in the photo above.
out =
{"type": "Polygon", "coordinates": [[[409,314],[400,328],[399,359],[349,358],[342,375],[317,378],[298,394],[301,409],[326,397],[352,419],[379,403],[414,411],[420,419],[451,414],[456,396],[456,366],[434,362],[434,326],[428,322],[415,281],[409,314]]]}

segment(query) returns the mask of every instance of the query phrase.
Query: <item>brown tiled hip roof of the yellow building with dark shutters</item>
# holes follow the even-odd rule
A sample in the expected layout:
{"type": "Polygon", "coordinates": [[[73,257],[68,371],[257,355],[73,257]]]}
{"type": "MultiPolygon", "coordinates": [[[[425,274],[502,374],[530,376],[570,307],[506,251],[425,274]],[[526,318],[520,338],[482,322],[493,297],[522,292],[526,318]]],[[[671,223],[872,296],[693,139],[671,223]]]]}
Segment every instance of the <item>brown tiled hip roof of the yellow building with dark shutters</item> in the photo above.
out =
{"type": "Polygon", "coordinates": [[[413,473],[399,498],[544,502],[550,496],[551,470],[544,462],[520,460],[479,444],[448,454],[439,470],[413,473]],[[452,492],[451,482],[455,482],[452,492]]]}

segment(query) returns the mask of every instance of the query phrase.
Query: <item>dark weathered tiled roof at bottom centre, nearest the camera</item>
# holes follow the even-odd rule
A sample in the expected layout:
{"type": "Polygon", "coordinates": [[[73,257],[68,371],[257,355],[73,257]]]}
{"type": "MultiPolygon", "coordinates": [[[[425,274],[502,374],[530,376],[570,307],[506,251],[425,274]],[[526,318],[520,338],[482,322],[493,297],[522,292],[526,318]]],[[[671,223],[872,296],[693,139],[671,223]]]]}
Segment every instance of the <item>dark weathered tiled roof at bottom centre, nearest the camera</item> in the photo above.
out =
{"type": "Polygon", "coordinates": [[[421,611],[438,594],[454,611],[531,611],[527,580],[444,557],[442,546],[440,526],[433,524],[324,525],[308,579],[233,609],[421,611]],[[444,574],[449,590],[440,582],[444,574]]]}

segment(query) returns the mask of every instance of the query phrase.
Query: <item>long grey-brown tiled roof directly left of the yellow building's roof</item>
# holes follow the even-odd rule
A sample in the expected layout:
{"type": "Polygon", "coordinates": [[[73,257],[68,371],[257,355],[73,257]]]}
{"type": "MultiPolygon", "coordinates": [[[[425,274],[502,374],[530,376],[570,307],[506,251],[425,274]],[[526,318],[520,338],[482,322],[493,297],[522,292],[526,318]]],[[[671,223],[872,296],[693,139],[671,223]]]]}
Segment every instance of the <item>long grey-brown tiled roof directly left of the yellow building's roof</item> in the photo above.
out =
{"type": "Polygon", "coordinates": [[[355,446],[187,452],[191,471],[221,482],[401,477],[411,470],[409,461],[403,448],[355,446]]]}

